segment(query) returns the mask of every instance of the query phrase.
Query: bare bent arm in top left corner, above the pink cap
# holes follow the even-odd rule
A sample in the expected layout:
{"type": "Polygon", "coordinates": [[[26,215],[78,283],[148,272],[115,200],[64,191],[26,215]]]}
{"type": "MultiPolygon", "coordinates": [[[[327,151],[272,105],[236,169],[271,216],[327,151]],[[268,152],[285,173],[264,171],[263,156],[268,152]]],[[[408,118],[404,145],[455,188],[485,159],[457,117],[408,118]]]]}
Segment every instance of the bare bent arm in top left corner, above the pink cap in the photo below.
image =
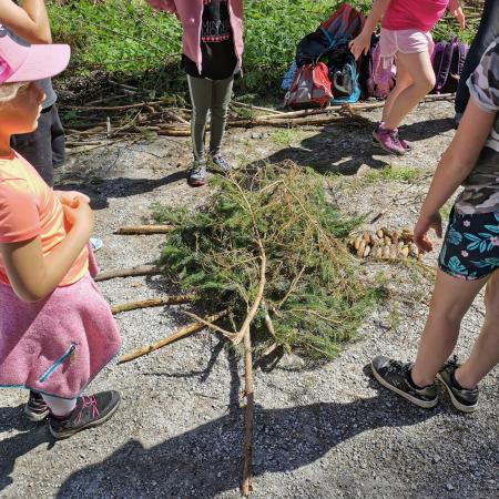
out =
{"type": "Polygon", "coordinates": [[[0,0],[0,23],[29,43],[52,43],[49,16],[43,0],[0,0]]]}

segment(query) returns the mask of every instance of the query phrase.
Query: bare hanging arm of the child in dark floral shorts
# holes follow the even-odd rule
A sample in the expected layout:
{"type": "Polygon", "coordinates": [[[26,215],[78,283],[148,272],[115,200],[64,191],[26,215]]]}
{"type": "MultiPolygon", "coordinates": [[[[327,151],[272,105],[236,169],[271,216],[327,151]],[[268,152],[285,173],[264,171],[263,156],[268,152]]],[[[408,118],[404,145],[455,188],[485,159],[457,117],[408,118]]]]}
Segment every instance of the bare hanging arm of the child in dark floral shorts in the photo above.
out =
{"type": "Polygon", "coordinates": [[[471,172],[495,120],[496,113],[487,112],[473,99],[469,100],[458,131],[438,163],[414,230],[415,243],[424,252],[432,249],[428,236],[430,228],[441,237],[439,210],[471,172]]]}

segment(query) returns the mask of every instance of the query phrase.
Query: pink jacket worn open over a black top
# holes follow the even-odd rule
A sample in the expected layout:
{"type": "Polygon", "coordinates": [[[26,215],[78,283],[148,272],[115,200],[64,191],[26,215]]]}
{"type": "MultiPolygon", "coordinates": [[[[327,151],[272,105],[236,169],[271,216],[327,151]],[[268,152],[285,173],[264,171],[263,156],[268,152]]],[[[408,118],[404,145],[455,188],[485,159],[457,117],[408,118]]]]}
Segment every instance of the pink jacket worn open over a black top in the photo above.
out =
{"type": "MultiPolygon", "coordinates": [[[[147,0],[153,9],[175,13],[183,29],[182,52],[202,71],[201,23],[203,19],[203,0],[147,0]]],[[[237,69],[241,69],[243,57],[243,0],[228,0],[234,49],[237,55],[237,69]]]]}

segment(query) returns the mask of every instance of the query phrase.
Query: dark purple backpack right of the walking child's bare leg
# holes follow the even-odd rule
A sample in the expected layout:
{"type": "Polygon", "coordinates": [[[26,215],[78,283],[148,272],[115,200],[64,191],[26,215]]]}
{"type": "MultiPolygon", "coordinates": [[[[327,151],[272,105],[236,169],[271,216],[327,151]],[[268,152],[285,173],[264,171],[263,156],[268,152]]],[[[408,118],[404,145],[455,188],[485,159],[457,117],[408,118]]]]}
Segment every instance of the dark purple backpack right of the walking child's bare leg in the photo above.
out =
{"type": "Polygon", "coordinates": [[[459,77],[469,47],[452,37],[448,42],[438,42],[431,54],[436,83],[432,93],[454,93],[457,91],[459,77]]]}

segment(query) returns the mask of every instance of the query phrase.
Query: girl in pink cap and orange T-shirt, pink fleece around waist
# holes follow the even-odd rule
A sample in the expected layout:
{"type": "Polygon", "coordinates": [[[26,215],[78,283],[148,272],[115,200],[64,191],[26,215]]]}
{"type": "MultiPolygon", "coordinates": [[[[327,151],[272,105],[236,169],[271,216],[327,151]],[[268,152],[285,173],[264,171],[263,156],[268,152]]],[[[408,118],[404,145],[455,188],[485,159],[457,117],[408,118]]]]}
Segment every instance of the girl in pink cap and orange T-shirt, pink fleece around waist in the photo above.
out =
{"type": "Polygon", "coordinates": [[[116,354],[111,310],[89,275],[89,198],[54,192],[10,146],[32,132],[43,91],[61,72],[68,45],[24,45],[0,28],[0,386],[32,390],[26,411],[49,413],[55,438],[96,426],[120,394],[81,391],[116,354]]]}

